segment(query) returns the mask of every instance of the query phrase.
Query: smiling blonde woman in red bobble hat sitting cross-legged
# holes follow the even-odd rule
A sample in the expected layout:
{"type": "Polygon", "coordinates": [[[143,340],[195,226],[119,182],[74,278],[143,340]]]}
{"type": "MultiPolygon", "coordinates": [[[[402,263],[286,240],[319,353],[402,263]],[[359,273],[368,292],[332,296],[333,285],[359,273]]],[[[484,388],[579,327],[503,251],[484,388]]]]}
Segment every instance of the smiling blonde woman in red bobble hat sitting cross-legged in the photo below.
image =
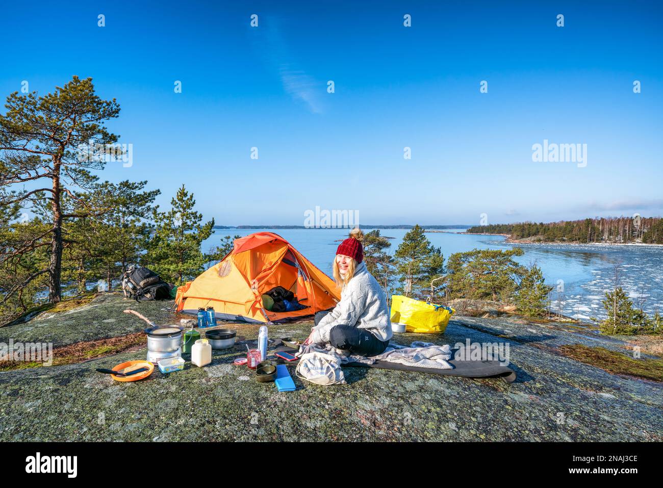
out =
{"type": "Polygon", "coordinates": [[[360,356],[375,356],[387,348],[393,335],[387,296],[363,262],[362,237],[361,230],[354,229],[336,250],[333,277],[341,301],[331,311],[316,314],[316,326],[304,345],[329,343],[360,356]]]}

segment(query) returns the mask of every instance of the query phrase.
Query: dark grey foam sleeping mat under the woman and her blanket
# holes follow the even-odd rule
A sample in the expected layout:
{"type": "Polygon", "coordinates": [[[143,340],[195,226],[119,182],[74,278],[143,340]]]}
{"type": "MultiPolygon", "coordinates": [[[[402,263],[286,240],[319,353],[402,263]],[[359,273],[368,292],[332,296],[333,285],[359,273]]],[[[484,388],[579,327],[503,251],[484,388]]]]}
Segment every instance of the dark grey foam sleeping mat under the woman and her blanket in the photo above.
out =
{"type": "MultiPolygon", "coordinates": [[[[298,349],[292,347],[280,346],[274,349],[274,352],[283,351],[286,353],[294,354],[298,349]]],[[[452,349],[452,357],[455,355],[457,349],[452,349]]],[[[292,361],[297,363],[298,361],[292,361]]],[[[373,364],[364,363],[345,363],[342,367],[351,366],[359,368],[376,368],[376,369],[394,369],[396,371],[416,371],[418,373],[428,373],[430,375],[445,375],[445,376],[462,376],[465,378],[501,378],[507,383],[516,381],[516,372],[511,368],[501,365],[499,361],[456,361],[450,359],[449,363],[453,369],[432,369],[421,368],[416,366],[407,366],[398,363],[390,363],[389,361],[375,360],[373,364]]]]}

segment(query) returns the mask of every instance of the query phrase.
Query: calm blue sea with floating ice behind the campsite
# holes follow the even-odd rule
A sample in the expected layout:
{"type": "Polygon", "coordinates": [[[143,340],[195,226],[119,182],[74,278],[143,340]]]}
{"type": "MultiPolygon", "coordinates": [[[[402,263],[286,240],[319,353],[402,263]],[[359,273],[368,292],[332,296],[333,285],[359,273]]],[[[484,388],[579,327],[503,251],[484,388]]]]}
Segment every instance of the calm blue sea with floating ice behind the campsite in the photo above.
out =
{"type": "MultiPolygon", "coordinates": [[[[363,229],[368,232],[370,229],[363,229]]],[[[249,235],[269,231],[289,241],[316,267],[331,275],[331,262],[340,241],[349,229],[215,229],[202,245],[208,252],[219,245],[225,235],[249,235]]],[[[408,229],[380,229],[389,239],[393,254],[408,229]]],[[[472,249],[511,249],[516,245],[505,242],[501,235],[461,234],[462,229],[444,232],[426,232],[436,247],[442,248],[446,260],[453,253],[472,249]]],[[[552,310],[561,307],[562,313],[581,320],[605,318],[601,300],[612,289],[615,265],[621,267],[621,286],[634,305],[643,302],[643,310],[663,313],[663,246],[602,245],[602,244],[518,244],[524,255],[516,257],[522,265],[536,263],[541,268],[546,284],[554,286],[552,310]]]]}

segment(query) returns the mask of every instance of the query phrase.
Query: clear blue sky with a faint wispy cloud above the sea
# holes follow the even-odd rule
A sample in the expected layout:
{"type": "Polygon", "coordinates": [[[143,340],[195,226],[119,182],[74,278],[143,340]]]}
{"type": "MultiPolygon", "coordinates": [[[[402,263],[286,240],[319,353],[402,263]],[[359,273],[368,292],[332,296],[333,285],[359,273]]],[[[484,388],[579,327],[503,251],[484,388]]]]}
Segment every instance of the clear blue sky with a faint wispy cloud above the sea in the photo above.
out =
{"type": "Polygon", "coordinates": [[[582,3],[5,3],[0,96],[91,76],[133,144],[101,178],[184,183],[221,225],[661,215],[663,7],[582,3]],[[544,139],[587,166],[532,162],[544,139]]]}

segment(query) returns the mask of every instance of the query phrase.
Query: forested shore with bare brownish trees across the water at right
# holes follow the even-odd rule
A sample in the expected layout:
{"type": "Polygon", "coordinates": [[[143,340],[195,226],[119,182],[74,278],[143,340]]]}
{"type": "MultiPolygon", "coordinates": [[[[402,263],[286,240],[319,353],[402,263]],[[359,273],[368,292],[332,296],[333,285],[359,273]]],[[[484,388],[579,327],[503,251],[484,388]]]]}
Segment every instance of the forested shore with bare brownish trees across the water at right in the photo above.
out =
{"type": "Polygon", "coordinates": [[[475,225],[468,234],[508,235],[509,241],[663,244],[661,217],[595,217],[558,222],[475,225]]]}

